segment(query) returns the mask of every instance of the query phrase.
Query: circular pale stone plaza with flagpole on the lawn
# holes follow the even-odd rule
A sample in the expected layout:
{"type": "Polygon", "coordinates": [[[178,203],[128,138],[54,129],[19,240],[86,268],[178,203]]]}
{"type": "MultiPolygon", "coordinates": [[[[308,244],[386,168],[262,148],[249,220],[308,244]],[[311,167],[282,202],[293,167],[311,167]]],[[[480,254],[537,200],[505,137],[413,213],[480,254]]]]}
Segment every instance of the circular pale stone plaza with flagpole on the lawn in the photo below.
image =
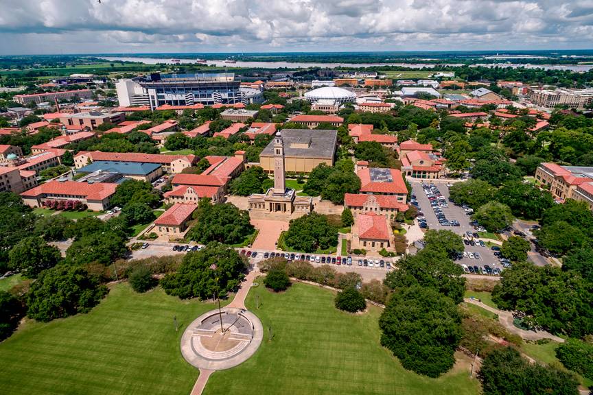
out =
{"type": "Polygon", "coordinates": [[[187,326],[181,337],[181,354],[198,369],[229,369],[251,357],[263,337],[259,318],[250,311],[226,307],[219,313],[216,309],[187,326]]]}

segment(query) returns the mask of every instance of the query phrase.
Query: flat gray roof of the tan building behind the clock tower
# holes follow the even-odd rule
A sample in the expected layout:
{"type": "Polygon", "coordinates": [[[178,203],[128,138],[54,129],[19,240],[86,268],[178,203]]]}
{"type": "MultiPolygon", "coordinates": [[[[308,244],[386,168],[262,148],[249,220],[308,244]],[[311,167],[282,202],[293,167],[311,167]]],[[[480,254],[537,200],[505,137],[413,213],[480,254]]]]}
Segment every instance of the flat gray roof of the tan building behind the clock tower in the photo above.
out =
{"type": "MultiPolygon", "coordinates": [[[[336,130],[283,129],[284,156],[291,158],[333,159],[336,152],[338,132],[336,130]],[[292,143],[303,144],[311,141],[308,148],[291,147],[292,143]]],[[[274,156],[274,139],[261,152],[261,156],[274,156]]]]}

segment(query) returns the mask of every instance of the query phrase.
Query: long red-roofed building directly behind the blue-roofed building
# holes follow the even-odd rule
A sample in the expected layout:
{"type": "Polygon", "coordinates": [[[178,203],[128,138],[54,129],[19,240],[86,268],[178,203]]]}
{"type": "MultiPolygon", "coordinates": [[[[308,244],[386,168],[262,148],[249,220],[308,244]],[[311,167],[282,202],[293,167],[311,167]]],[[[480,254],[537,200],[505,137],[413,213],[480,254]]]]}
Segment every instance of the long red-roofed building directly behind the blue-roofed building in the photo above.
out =
{"type": "Polygon", "coordinates": [[[109,162],[141,162],[159,163],[165,173],[181,173],[187,167],[193,166],[198,158],[194,155],[165,155],[143,154],[140,152],[101,152],[81,151],[74,156],[74,167],[80,169],[93,163],[93,160],[109,162]]]}

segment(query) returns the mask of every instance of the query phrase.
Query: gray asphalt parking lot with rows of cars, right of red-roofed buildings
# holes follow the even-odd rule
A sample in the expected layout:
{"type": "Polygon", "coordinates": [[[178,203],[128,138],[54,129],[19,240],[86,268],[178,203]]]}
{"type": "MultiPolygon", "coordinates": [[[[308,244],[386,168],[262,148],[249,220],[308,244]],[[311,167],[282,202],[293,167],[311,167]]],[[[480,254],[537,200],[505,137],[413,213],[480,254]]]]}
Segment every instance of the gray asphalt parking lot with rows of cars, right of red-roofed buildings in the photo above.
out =
{"type": "MultiPolygon", "coordinates": [[[[480,246],[479,243],[476,243],[476,239],[472,236],[471,238],[468,237],[467,232],[470,232],[472,235],[476,230],[474,226],[469,224],[472,219],[469,215],[465,213],[465,209],[461,206],[456,206],[452,202],[449,201],[449,187],[447,187],[446,181],[440,180],[426,180],[424,181],[414,181],[412,182],[412,194],[415,195],[416,200],[418,201],[419,211],[423,213],[423,217],[426,218],[426,223],[428,224],[428,228],[435,229],[435,230],[451,230],[456,234],[460,235],[464,239],[474,239],[474,246],[464,244],[465,252],[468,253],[467,257],[463,257],[461,259],[456,260],[457,263],[460,265],[470,265],[472,268],[478,267],[478,272],[486,274],[485,265],[488,265],[492,270],[498,269],[502,270],[502,265],[498,261],[498,257],[494,255],[494,252],[487,246],[480,246]],[[422,188],[422,183],[426,184],[434,184],[437,189],[439,189],[441,195],[443,195],[444,201],[446,202],[446,206],[439,205],[439,210],[443,213],[444,217],[447,221],[457,221],[458,226],[443,226],[439,223],[439,219],[437,219],[437,215],[435,215],[432,206],[430,205],[430,200],[426,193],[422,188]],[[469,257],[469,253],[474,255],[474,258],[469,257]],[[477,258],[475,257],[477,253],[477,258]]],[[[441,200],[442,202],[442,200],[441,200]]],[[[482,239],[486,241],[485,239],[482,239]]],[[[475,272],[475,270],[474,270],[475,272]]]]}

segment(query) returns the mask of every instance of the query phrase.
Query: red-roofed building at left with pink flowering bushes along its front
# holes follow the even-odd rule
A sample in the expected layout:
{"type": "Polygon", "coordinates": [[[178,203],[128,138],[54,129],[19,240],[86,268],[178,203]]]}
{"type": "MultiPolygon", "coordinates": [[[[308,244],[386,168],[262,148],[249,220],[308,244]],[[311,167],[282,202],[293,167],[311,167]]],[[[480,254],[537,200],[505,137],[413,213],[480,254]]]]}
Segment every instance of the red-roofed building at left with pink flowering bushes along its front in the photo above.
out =
{"type": "Polygon", "coordinates": [[[93,211],[103,211],[115,193],[117,184],[109,182],[49,181],[21,193],[23,202],[30,207],[41,207],[47,200],[78,200],[93,211]]]}

